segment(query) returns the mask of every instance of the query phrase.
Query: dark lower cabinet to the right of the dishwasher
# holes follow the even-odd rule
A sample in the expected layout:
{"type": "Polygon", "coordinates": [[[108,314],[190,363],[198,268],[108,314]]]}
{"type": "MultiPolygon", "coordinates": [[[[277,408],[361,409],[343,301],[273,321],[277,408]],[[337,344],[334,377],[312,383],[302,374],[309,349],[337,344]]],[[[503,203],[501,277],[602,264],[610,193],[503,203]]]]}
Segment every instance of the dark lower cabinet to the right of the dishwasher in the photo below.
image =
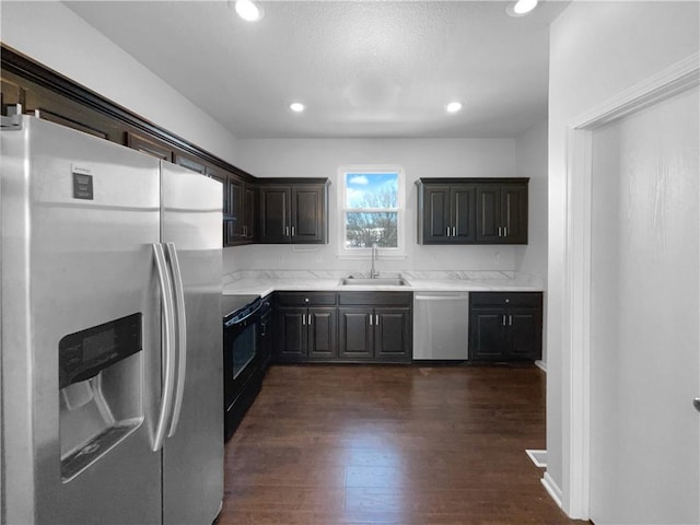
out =
{"type": "Polygon", "coordinates": [[[471,292],[469,303],[470,361],[541,359],[541,292],[471,292]]]}

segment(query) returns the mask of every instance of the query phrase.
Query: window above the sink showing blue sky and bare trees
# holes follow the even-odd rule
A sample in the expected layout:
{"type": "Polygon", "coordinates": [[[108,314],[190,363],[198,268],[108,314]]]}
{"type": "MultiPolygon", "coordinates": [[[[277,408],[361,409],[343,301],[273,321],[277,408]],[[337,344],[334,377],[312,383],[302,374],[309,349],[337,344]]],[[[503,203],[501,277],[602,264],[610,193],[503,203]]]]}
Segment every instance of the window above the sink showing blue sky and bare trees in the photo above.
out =
{"type": "Polygon", "coordinates": [[[401,255],[401,171],[342,170],[340,176],[341,252],[360,255],[376,243],[385,255],[401,255]]]}

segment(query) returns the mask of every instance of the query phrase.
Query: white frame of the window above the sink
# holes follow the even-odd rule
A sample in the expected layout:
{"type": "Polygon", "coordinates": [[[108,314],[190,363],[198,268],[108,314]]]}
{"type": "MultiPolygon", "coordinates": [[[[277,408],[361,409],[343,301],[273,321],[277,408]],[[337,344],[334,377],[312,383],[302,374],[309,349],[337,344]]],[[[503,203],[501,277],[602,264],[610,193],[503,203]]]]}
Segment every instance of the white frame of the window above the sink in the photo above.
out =
{"type": "Polygon", "coordinates": [[[378,256],[384,259],[405,259],[406,258],[406,173],[399,165],[361,165],[361,166],[341,166],[338,168],[338,258],[340,259],[370,259],[372,257],[372,248],[351,248],[346,246],[346,217],[348,212],[358,211],[381,211],[376,208],[348,208],[347,202],[347,174],[370,175],[370,174],[396,174],[397,175],[397,207],[386,209],[386,211],[396,211],[396,248],[378,248],[378,256]]]}

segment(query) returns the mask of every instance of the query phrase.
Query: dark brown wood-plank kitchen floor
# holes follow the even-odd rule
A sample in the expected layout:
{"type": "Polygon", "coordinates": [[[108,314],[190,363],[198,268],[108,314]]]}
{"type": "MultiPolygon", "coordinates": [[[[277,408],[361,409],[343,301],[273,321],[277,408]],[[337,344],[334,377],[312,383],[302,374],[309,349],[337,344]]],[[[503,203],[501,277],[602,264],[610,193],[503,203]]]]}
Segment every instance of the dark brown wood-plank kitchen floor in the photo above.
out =
{"type": "Polygon", "coordinates": [[[535,366],[273,366],[226,444],[220,525],[574,524],[535,366]]]}

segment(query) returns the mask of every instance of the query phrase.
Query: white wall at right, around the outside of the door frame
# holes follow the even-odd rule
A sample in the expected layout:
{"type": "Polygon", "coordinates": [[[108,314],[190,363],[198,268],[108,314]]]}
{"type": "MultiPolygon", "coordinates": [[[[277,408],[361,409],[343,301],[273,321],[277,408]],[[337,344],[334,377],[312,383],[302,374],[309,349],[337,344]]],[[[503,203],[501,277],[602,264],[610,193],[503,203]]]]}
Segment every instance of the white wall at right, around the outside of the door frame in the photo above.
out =
{"type": "MultiPolygon", "coordinates": [[[[569,509],[570,348],[565,299],[567,122],[697,52],[698,2],[574,1],[550,30],[547,475],[569,509]]],[[[593,210],[595,213],[595,209],[593,210]]]]}

